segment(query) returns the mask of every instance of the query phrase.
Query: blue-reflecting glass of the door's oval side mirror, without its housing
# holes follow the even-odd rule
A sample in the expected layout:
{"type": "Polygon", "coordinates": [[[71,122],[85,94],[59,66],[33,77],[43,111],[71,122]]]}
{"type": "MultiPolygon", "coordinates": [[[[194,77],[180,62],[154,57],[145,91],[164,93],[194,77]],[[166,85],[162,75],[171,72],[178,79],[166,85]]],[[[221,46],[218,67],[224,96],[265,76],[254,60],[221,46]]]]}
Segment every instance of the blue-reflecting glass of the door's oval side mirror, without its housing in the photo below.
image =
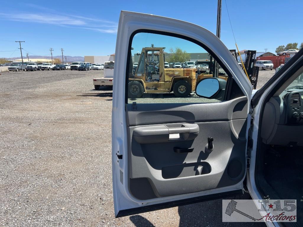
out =
{"type": "Polygon", "coordinates": [[[219,81],[216,78],[206,78],[200,81],[196,88],[198,96],[210,98],[219,90],[219,81]]]}

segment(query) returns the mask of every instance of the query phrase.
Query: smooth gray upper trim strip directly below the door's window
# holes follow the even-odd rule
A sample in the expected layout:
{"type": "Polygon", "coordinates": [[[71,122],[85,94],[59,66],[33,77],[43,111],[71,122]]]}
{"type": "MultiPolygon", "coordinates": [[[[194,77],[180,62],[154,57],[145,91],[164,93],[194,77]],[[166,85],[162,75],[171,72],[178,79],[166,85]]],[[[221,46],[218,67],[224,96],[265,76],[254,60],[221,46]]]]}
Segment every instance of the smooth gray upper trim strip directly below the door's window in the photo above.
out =
{"type": "Polygon", "coordinates": [[[132,105],[126,104],[127,126],[246,119],[248,114],[246,96],[218,103],[139,103],[137,111],[132,111],[132,105]]]}

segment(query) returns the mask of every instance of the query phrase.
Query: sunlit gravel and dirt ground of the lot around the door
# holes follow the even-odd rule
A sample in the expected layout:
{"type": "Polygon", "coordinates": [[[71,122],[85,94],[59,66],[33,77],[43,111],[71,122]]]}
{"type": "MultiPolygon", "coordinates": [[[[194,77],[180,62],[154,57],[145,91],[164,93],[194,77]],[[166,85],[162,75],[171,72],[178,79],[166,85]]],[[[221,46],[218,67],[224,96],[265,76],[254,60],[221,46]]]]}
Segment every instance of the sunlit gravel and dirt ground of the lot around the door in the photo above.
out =
{"type": "MultiPolygon", "coordinates": [[[[260,71],[259,86],[273,73],[260,71]]],[[[222,223],[221,200],[115,219],[112,90],[93,89],[100,75],[2,72],[0,225],[243,226],[222,223]]]]}

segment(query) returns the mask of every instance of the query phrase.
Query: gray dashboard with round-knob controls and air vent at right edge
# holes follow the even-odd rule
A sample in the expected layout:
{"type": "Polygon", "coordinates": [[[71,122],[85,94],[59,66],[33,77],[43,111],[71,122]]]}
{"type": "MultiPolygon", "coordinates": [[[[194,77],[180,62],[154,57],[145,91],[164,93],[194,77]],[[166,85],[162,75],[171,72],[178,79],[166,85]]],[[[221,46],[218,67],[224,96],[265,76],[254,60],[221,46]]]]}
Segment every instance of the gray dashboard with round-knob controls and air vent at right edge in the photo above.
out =
{"type": "Polygon", "coordinates": [[[265,104],[261,138],[270,145],[303,146],[303,87],[292,87],[265,104]]]}

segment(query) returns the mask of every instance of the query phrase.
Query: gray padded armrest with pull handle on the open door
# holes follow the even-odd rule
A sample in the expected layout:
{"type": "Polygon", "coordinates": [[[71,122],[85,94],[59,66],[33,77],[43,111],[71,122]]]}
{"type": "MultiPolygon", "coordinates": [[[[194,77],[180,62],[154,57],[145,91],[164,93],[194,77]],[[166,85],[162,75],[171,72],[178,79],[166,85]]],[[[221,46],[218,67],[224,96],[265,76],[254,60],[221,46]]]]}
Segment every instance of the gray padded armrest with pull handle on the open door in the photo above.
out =
{"type": "Polygon", "coordinates": [[[198,124],[182,124],[181,127],[166,125],[139,127],[134,129],[132,136],[138,143],[165,143],[176,140],[194,140],[198,134],[198,124]],[[177,134],[177,136],[172,136],[172,134],[177,134]]]}

